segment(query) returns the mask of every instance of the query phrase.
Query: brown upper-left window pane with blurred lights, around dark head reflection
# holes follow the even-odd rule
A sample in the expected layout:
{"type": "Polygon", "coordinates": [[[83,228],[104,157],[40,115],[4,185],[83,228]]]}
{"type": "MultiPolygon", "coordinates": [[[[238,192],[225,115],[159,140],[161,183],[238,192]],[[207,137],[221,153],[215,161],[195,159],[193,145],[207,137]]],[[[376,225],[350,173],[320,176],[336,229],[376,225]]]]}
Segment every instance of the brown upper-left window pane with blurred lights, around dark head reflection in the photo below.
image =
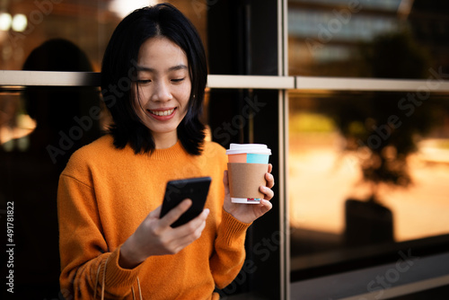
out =
{"type": "Polygon", "coordinates": [[[7,1],[0,8],[0,69],[21,70],[32,49],[46,40],[66,39],[84,50],[98,72],[117,24],[136,8],[159,2],[185,13],[207,45],[207,10],[215,1],[7,1]]]}

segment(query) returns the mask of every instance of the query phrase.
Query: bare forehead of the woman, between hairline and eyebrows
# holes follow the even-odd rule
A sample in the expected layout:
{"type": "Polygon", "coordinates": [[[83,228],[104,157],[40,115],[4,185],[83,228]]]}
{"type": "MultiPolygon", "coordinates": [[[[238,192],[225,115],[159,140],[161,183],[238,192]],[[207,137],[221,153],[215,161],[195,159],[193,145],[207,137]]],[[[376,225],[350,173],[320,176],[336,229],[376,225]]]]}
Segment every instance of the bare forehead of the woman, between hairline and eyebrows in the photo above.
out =
{"type": "Polygon", "coordinates": [[[137,63],[139,66],[163,71],[172,66],[188,66],[184,51],[172,40],[156,37],[145,40],[139,49],[137,63]]]}

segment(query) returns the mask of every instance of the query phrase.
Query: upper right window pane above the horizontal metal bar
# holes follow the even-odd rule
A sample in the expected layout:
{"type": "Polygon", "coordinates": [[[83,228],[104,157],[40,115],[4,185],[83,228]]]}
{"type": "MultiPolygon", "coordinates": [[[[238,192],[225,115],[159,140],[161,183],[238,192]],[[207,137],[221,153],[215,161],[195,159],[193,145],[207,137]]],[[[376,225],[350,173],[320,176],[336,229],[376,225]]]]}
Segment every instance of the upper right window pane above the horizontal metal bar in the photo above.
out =
{"type": "Polygon", "coordinates": [[[289,75],[423,78],[430,67],[447,73],[447,13],[447,3],[424,0],[289,0],[289,75]]]}

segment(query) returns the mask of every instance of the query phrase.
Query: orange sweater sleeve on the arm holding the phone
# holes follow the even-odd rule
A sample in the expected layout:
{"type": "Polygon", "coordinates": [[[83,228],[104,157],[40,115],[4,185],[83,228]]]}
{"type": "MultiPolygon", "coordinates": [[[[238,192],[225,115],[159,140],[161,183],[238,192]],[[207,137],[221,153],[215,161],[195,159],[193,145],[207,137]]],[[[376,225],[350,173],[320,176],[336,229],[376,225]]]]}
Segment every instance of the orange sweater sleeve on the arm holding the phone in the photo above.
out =
{"type": "Polygon", "coordinates": [[[139,267],[119,267],[119,247],[109,249],[96,205],[95,192],[89,185],[64,173],[57,192],[59,250],[61,255],[61,292],[66,299],[91,299],[93,290],[104,296],[123,298],[131,293],[139,267]]]}

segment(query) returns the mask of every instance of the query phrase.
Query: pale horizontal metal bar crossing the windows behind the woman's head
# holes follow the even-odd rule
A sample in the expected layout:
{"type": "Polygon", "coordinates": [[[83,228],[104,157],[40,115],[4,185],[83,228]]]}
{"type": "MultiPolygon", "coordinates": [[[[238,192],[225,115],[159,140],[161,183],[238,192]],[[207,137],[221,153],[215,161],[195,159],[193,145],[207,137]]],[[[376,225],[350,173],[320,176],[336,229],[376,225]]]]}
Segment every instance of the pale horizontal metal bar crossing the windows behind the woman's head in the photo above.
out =
{"type": "MultiPolygon", "coordinates": [[[[283,58],[279,58],[283,59],[283,58]]],[[[284,70],[284,73],[286,71],[284,70]]],[[[374,79],[350,77],[264,76],[264,75],[208,75],[211,89],[273,89],[295,91],[378,91],[449,92],[449,80],[435,70],[429,71],[434,79],[374,79]]],[[[0,86],[98,86],[101,74],[95,72],[0,71],[0,86]]]]}

